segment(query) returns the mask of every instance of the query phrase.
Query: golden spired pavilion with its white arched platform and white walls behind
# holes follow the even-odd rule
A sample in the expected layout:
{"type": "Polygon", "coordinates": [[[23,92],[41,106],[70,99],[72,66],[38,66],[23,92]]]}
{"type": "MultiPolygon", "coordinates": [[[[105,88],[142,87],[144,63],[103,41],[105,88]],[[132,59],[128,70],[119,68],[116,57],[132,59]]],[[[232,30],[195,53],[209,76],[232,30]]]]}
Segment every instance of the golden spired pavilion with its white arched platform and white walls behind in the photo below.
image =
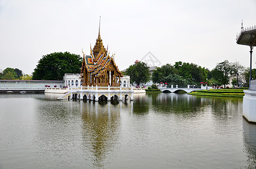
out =
{"type": "MultiPolygon", "coordinates": [[[[100,23],[99,23],[100,25],[100,23]]],[[[100,27],[99,27],[100,28],[100,27]]],[[[100,29],[99,29],[100,30],[100,29]]],[[[86,100],[133,100],[133,88],[130,79],[124,76],[115,63],[115,55],[109,55],[109,47],[103,46],[100,32],[90,55],[83,50],[81,74],[65,74],[64,83],[68,91],[57,99],[86,100]]]]}

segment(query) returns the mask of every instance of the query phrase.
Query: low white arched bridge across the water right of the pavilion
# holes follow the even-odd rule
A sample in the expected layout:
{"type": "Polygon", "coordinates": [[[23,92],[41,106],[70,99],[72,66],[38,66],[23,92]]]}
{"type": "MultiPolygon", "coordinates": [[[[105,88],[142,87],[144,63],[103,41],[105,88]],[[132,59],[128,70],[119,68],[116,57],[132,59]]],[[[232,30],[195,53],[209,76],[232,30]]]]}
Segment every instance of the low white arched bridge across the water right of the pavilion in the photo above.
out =
{"type": "Polygon", "coordinates": [[[160,91],[164,92],[164,91],[170,91],[170,92],[179,92],[181,90],[190,93],[192,91],[197,91],[197,90],[206,90],[206,89],[210,89],[212,87],[209,86],[190,86],[189,84],[187,86],[178,86],[176,85],[175,87],[173,87],[173,85],[171,85],[171,87],[167,87],[167,86],[158,86],[158,89],[160,89],[160,91]]]}

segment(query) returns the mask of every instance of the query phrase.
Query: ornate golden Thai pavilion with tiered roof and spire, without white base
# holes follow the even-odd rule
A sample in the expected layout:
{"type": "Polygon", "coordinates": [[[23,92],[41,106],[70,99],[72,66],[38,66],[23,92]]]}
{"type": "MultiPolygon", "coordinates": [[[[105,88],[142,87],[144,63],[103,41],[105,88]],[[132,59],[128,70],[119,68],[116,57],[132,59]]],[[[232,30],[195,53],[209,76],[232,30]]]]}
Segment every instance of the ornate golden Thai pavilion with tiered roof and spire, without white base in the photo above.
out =
{"type": "Polygon", "coordinates": [[[109,56],[99,33],[93,50],[90,47],[90,55],[84,55],[81,68],[82,86],[120,86],[121,77],[123,74],[115,64],[114,55],[109,56]]]}

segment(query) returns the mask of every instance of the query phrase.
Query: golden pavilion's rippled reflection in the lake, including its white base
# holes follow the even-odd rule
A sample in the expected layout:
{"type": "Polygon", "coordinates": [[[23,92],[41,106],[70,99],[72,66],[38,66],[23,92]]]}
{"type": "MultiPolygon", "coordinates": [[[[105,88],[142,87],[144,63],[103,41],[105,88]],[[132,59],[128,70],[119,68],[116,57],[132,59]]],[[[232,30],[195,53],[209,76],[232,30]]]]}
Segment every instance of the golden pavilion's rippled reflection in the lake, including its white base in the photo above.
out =
{"type": "Polygon", "coordinates": [[[132,112],[133,101],[96,101],[80,104],[84,150],[93,154],[94,166],[103,167],[108,155],[114,154],[120,137],[122,112],[132,112]]]}

